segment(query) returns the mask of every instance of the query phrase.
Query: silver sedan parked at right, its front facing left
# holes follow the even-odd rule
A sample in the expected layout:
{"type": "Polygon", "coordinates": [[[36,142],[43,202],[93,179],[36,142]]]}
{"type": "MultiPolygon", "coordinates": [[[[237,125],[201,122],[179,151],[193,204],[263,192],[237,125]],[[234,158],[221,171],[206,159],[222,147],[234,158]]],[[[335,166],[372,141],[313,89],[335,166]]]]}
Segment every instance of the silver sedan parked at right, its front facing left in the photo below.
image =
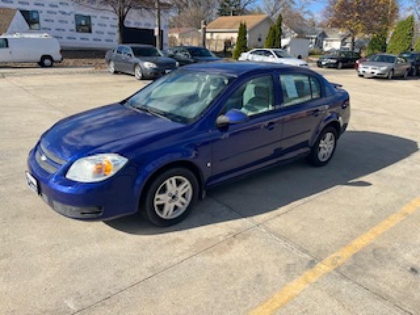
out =
{"type": "Polygon", "coordinates": [[[395,76],[407,78],[411,64],[404,58],[391,54],[376,54],[359,67],[357,74],[362,77],[393,79],[395,76]]]}

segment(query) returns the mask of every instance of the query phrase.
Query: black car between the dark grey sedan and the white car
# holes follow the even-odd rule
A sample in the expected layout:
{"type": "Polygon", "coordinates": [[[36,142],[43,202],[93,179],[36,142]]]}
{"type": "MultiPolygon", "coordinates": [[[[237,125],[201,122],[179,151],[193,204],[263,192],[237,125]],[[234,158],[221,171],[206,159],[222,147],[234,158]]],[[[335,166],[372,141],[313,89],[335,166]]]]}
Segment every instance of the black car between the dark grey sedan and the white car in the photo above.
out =
{"type": "Polygon", "coordinates": [[[179,66],[189,65],[191,63],[220,61],[210,50],[198,46],[176,46],[167,50],[168,57],[178,61],[179,66]]]}

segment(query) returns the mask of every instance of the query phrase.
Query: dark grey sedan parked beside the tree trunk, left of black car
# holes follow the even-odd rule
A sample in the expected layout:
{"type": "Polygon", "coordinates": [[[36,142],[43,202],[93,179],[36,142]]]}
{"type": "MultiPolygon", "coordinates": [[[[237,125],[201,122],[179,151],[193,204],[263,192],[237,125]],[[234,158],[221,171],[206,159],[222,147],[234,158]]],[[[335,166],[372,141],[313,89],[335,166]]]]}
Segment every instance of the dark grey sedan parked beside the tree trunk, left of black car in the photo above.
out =
{"type": "Polygon", "coordinates": [[[118,45],[106,53],[105,62],[111,74],[134,74],[137,80],[157,78],[178,67],[152,45],[118,45]]]}

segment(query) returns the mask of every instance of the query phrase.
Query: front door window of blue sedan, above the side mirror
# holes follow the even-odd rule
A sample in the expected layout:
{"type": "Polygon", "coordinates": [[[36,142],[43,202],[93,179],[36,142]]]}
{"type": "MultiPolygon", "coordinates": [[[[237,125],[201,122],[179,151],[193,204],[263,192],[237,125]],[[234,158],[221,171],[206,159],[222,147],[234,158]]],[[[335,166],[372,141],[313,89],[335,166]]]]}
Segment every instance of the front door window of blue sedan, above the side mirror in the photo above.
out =
{"type": "Polygon", "coordinates": [[[229,97],[222,113],[237,109],[252,116],[272,110],[274,108],[273,90],[272,76],[251,79],[229,97]]]}

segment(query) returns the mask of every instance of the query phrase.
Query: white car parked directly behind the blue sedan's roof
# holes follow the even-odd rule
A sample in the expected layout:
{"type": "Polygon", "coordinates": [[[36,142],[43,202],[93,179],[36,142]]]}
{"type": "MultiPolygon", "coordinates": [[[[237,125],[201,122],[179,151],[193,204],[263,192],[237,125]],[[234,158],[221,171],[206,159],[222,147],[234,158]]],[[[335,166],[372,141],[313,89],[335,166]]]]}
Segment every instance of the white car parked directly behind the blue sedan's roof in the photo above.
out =
{"type": "Polygon", "coordinates": [[[246,53],[241,53],[238,60],[282,63],[282,64],[285,64],[285,65],[309,68],[308,63],[305,60],[294,58],[286,50],[275,49],[275,48],[272,48],[272,49],[262,49],[262,48],[252,49],[252,50],[249,50],[246,53]]]}

